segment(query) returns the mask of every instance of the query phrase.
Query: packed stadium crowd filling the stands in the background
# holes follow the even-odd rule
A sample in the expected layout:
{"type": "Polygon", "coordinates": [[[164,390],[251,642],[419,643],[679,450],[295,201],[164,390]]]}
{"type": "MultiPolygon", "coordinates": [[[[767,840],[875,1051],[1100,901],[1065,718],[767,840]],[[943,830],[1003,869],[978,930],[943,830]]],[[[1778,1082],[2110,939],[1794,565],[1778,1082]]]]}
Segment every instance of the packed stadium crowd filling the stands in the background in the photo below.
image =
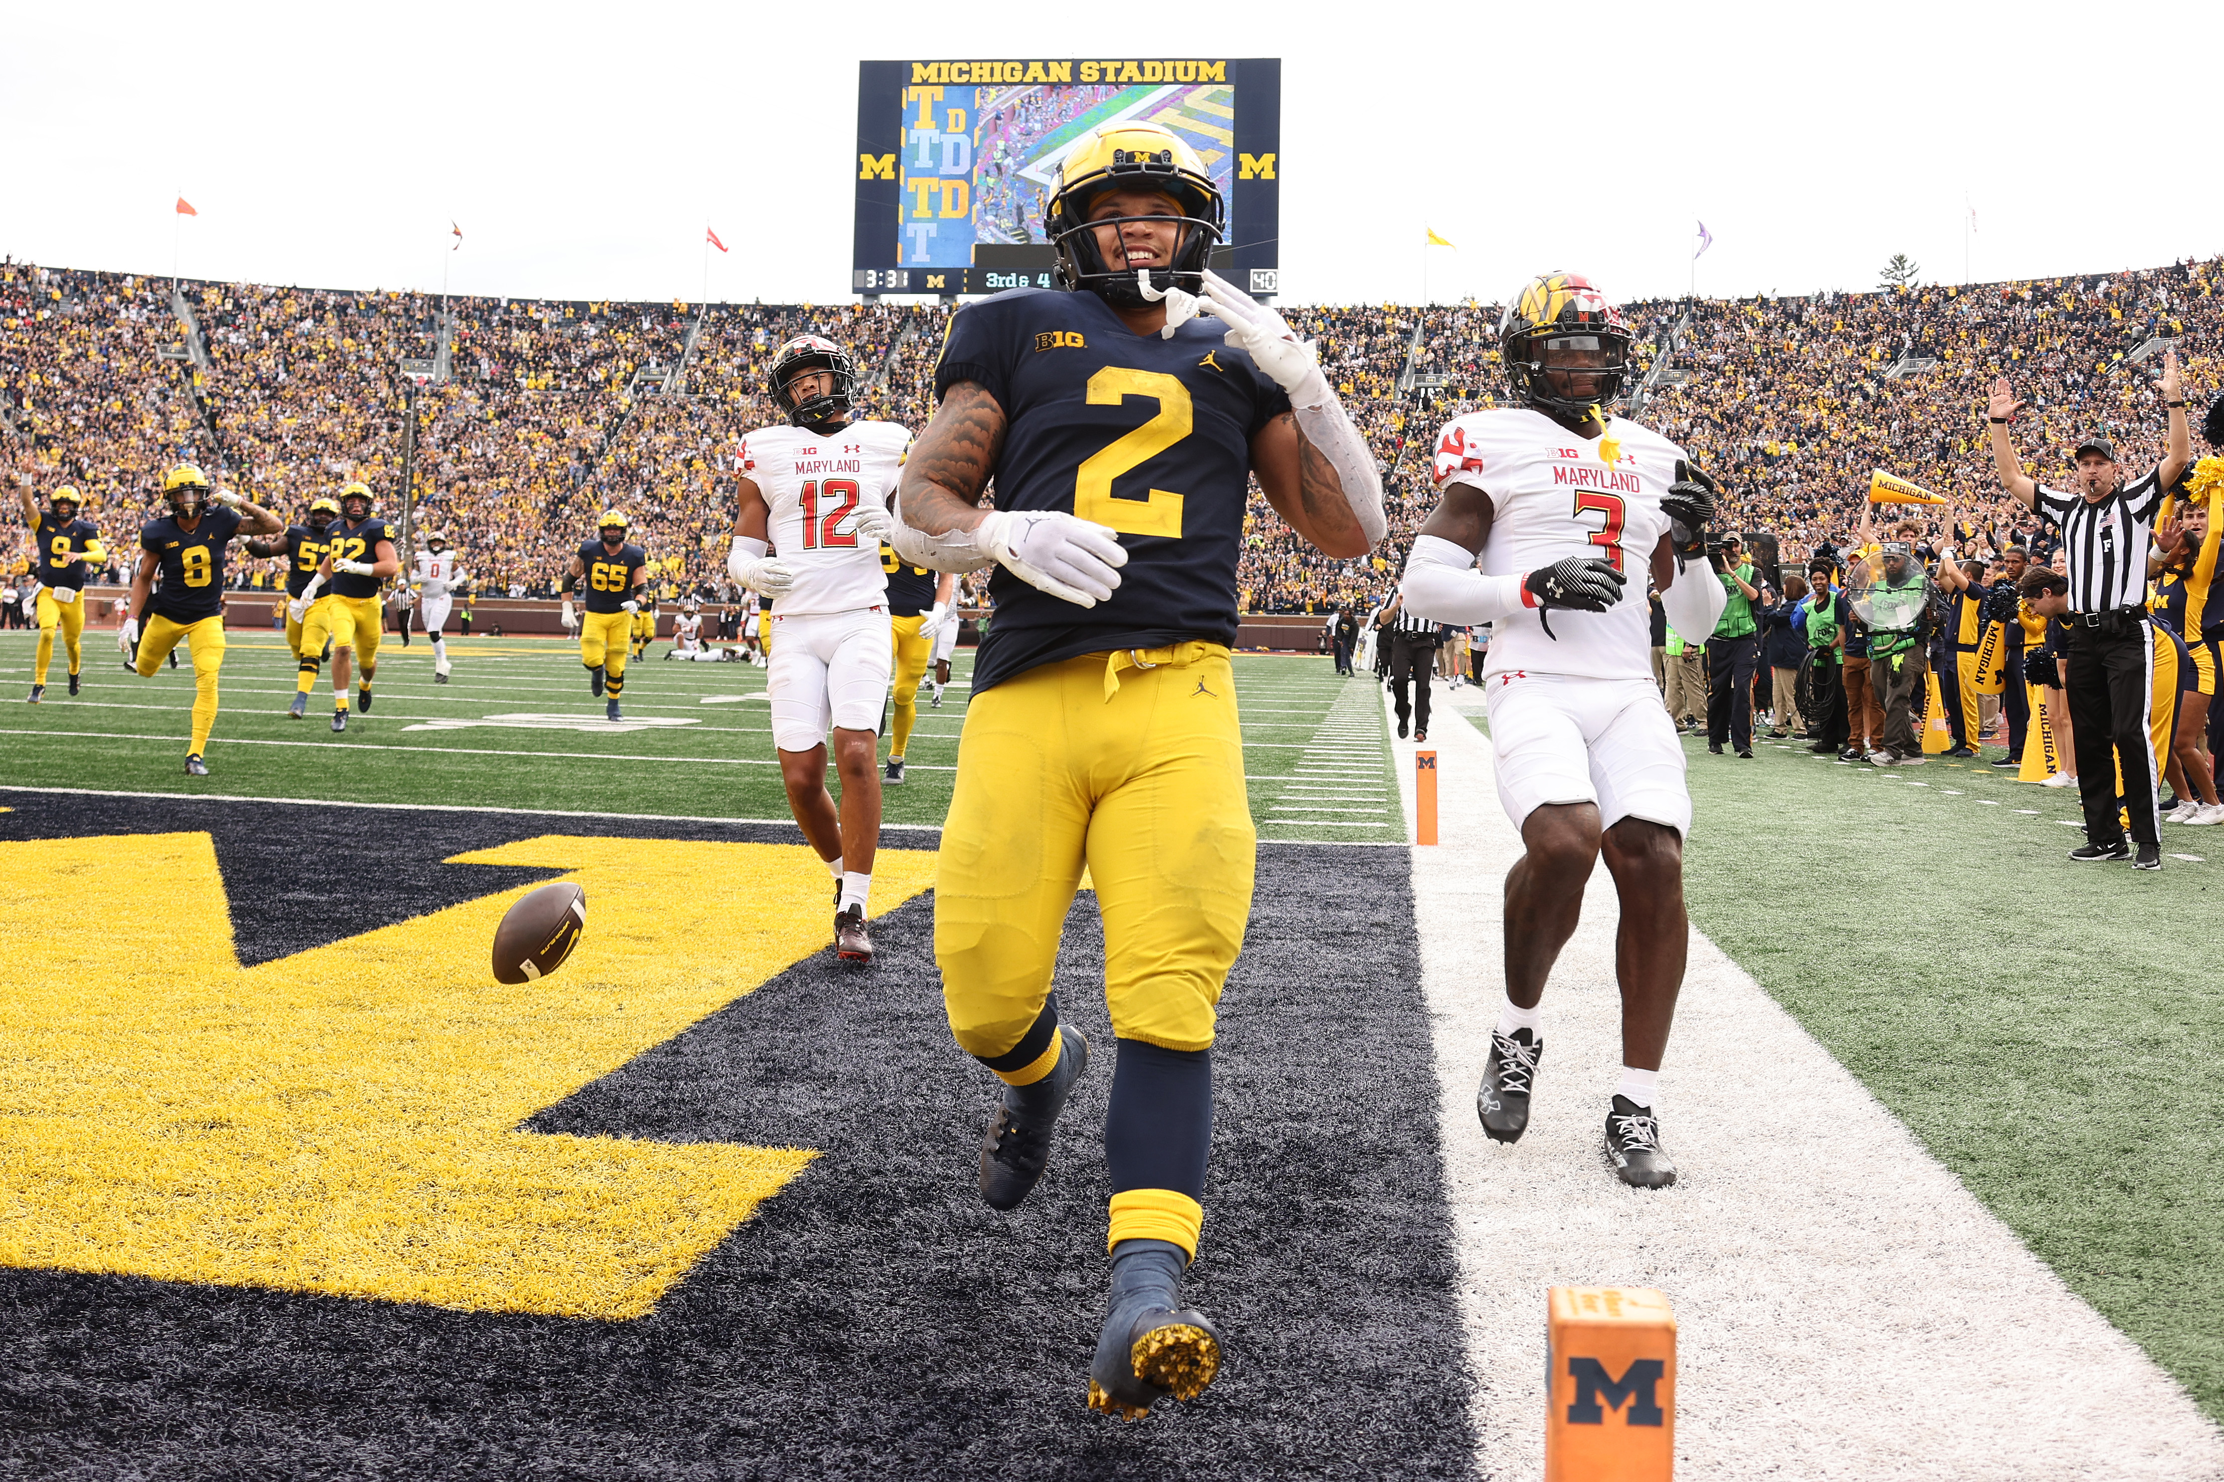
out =
{"type": "MultiPolygon", "coordinates": [[[[1957,502],[2004,542],[2028,527],[1999,498],[1984,389],[2006,369],[2033,402],[2017,429],[2042,480],[2075,435],[2108,431],[2153,462],[2162,420],[2146,369],[2182,338],[2186,378],[2217,384],[2224,260],[1968,287],[1628,304],[1648,375],[1639,418],[1728,487],[1728,522],[1781,560],[1857,538],[1870,469],[1957,502]]],[[[363,478],[398,509],[416,409],[418,529],[460,547],[480,593],[545,595],[603,507],[623,507],[661,595],[725,593],[741,435],[774,420],[765,367],[825,333],[858,362],[867,415],[923,427],[941,304],[614,304],[185,282],[0,264],[0,473],[78,484],[96,520],[151,509],[160,467],[196,460],[296,511],[363,478]],[[445,347],[445,356],[443,356],[445,347]],[[445,360],[411,395],[403,360],[445,360]]],[[[1432,502],[1428,438],[1497,400],[1497,307],[1285,311],[1386,471],[1390,535],[1330,560],[1252,495],[1245,611],[1366,611],[1397,578],[1432,502]]],[[[9,509],[0,515],[20,518],[9,509]]],[[[4,529],[4,527],[0,527],[4,529]]],[[[2033,531],[2035,533],[2035,531],[2033,531]]],[[[22,569],[22,531],[11,544],[22,569]]],[[[236,573],[265,587],[274,569],[236,573]]]]}

